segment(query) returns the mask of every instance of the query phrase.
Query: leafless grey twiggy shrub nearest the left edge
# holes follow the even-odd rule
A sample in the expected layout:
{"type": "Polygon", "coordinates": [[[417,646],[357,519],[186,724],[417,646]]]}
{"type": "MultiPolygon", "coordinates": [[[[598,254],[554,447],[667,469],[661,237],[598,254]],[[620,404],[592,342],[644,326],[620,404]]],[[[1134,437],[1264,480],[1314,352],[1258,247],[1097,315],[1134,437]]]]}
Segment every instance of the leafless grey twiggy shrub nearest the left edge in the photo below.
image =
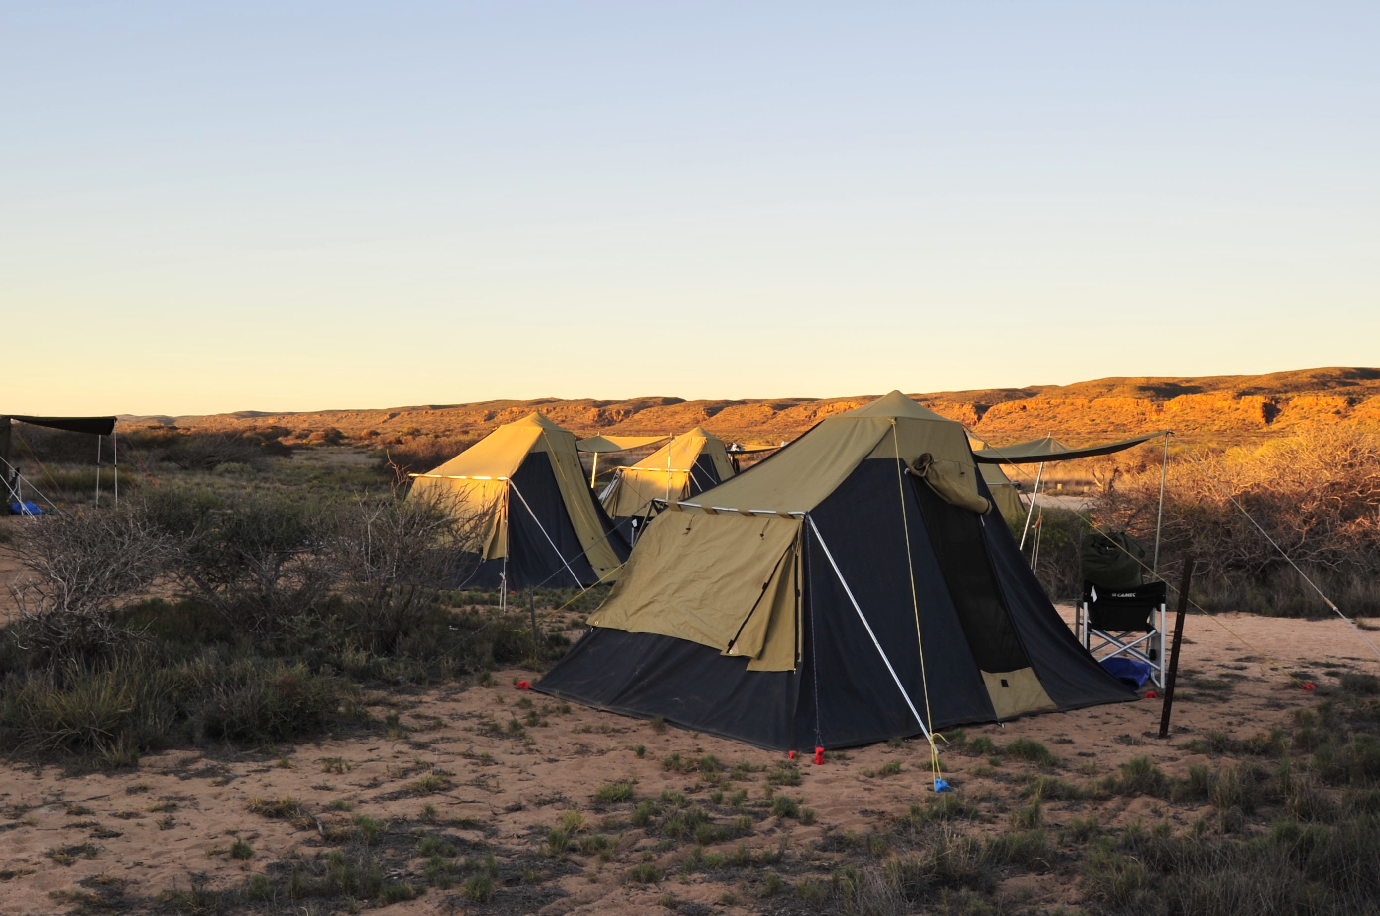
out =
{"type": "Polygon", "coordinates": [[[10,586],[19,646],[40,665],[90,664],[132,633],[120,599],[164,575],[179,552],[144,506],[51,516],[18,526],[12,552],[28,575],[10,586]]]}

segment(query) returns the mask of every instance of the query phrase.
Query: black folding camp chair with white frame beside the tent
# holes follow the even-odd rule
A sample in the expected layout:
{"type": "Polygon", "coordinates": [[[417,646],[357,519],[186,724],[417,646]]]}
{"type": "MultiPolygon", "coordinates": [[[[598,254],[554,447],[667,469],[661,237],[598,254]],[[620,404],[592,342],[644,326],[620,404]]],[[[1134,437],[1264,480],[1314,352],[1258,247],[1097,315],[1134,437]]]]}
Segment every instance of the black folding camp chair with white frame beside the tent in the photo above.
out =
{"type": "Polygon", "coordinates": [[[1155,686],[1163,687],[1167,604],[1163,582],[1114,588],[1083,579],[1074,629],[1098,661],[1119,655],[1144,662],[1155,686]]]}

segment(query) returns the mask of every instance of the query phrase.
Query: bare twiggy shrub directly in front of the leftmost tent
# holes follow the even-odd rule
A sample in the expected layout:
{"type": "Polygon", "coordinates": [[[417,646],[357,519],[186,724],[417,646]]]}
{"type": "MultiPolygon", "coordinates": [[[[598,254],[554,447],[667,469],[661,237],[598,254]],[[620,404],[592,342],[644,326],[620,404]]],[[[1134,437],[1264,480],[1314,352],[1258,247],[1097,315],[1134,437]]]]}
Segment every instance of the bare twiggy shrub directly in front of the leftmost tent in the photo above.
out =
{"type": "Polygon", "coordinates": [[[331,550],[341,595],[377,653],[391,653],[443,589],[480,561],[491,512],[465,512],[443,497],[356,502],[337,516],[331,550]]]}

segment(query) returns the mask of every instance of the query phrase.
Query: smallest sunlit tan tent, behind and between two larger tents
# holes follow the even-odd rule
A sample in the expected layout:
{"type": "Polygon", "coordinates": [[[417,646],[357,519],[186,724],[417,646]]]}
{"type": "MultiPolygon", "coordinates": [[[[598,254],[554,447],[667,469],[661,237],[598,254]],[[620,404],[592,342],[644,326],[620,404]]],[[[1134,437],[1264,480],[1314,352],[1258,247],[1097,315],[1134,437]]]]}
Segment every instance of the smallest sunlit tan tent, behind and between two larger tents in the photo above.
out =
{"type": "Polygon", "coordinates": [[[696,426],[672,437],[665,447],[636,465],[614,470],[599,501],[614,524],[627,530],[631,520],[654,515],[653,499],[689,499],[718,487],[733,475],[733,459],[723,440],[704,426],[696,426]]]}

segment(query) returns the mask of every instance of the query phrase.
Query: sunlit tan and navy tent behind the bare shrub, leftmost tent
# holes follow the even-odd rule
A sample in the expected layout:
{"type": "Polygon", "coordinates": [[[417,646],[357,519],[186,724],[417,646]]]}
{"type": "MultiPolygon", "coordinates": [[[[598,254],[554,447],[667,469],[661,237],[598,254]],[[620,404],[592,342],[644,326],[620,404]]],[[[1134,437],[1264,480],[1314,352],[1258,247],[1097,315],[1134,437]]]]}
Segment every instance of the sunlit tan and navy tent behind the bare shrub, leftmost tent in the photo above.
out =
{"type": "Polygon", "coordinates": [[[586,586],[611,581],[628,556],[585,484],[574,435],[540,412],[413,475],[411,495],[487,513],[482,561],[461,588],[586,586]]]}

